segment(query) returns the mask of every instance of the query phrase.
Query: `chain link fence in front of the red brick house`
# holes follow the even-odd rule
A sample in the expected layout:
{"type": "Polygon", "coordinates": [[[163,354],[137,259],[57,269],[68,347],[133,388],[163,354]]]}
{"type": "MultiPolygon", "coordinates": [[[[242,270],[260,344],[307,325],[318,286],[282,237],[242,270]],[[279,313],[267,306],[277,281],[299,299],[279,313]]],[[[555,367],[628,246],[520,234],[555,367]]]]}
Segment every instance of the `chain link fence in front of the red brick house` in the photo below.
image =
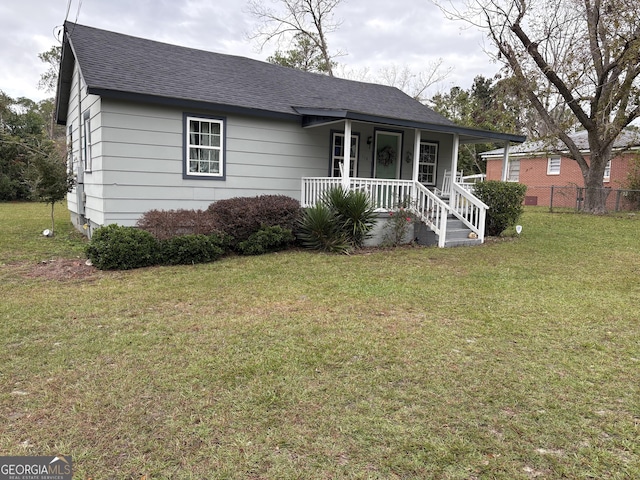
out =
{"type": "MultiPolygon", "coordinates": [[[[607,210],[629,212],[640,210],[640,190],[604,189],[607,196],[607,210]]],[[[581,210],[584,204],[585,188],[575,185],[527,187],[525,205],[549,207],[549,210],[581,210]]]]}

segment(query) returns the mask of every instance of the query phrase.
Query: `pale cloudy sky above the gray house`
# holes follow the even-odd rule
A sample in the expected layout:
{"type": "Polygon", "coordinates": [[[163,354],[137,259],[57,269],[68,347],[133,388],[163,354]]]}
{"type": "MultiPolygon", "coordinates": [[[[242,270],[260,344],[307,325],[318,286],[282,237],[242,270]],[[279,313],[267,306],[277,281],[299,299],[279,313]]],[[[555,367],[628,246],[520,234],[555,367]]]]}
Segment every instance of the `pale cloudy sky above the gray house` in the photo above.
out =
{"type": "MultiPolygon", "coordinates": [[[[272,0],[264,0],[272,3],[272,0]]],[[[274,3],[277,5],[277,3],[274,3]]],[[[266,59],[247,39],[256,20],[246,0],[7,0],[0,3],[0,90],[11,97],[41,100],[46,66],[38,53],[57,44],[54,32],[67,17],[83,25],[219,53],[266,59]],[[67,15],[67,9],[69,13],[67,15]]],[[[429,0],[343,0],[335,10],[342,21],[329,37],[332,50],[345,53],[338,69],[369,81],[382,67],[428,71],[439,58],[453,70],[431,89],[469,88],[476,75],[493,76],[499,66],[484,51],[480,32],[444,18],[429,0]]]]}

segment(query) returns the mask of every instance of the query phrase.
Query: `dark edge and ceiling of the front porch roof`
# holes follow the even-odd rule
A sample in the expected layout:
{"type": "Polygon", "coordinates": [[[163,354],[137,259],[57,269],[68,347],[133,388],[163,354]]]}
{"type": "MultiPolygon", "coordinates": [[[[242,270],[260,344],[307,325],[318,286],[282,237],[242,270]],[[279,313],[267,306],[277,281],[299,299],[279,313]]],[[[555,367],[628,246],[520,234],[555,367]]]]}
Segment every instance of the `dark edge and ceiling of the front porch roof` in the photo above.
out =
{"type": "Polygon", "coordinates": [[[461,144],[492,143],[492,142],[514,142],[522,143],[527,137],[523,135],[513,135],[510,133],[490,132],[477,130],[474,128],[460,127],[458,125],[439,125],[434,123],[416,122],[390,117],[379,117],[367,115],[349,110],[329,110],[320,108],[296,107],[295,110],[302,115],[303,128],[314,128],[330,125],[344,120],[354,120],[364,123],[374,123],[378,125],[389,125],[393,127],[417,128],[420,130],[458,134],[461,144]]]}

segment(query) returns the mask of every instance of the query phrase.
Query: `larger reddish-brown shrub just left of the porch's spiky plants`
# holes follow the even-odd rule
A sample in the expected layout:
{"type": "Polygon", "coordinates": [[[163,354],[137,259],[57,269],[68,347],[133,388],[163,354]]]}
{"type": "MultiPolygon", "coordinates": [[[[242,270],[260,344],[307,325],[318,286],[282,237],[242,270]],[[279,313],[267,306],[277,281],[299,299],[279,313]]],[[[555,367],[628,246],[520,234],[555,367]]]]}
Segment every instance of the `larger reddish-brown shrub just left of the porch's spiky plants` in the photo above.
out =
{"type": "Polygon", "coordinates": [[[302,212],[300,202],[285,195],[218,200],[209,205],[207,211],[220,230],[234,238],[234,248],[263,226],[278,225],[295,232],[302,212]]]}

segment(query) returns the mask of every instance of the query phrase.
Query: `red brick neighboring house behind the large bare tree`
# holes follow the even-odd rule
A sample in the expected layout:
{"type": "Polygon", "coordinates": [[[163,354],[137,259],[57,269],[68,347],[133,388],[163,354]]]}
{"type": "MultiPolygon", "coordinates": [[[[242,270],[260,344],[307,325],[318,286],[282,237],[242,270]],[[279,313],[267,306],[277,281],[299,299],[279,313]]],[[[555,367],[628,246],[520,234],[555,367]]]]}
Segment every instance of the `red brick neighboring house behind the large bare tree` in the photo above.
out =
{"type": "MultiPolygon", "coordinates": [[[[587,132],[581,131],[570,136],[589,161],[587,132]]],[[[614,156],[605,170],[604,186],[612,189],[624,188],[630,162],[639,153],[640,134],[625,130],[614,144],[614,156]]],[[[481,154],[487,161],[487,180],[504,178],[527,185],[529,193],[526,203],[529,205],[548,206],[551,186],[584,186],[580,167],[575,160],[569,158],[568,149],[563,143],[549,146],[538,141],[514,145],[509,148],[507,168],[504,172],[503,154],[502,148],[481,154]]]]}

